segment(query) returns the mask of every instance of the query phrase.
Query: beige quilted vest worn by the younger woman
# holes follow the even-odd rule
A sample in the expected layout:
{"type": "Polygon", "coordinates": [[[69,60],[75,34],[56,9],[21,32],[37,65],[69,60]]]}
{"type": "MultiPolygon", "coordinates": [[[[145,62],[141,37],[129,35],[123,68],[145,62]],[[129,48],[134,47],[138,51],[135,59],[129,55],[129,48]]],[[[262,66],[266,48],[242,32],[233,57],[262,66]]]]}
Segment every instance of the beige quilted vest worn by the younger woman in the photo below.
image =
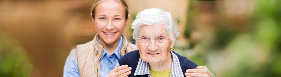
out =
{"type": "MultiPolygon", "coordinates": [[[[94,37],[94,40],[79,44],[77,49],[77,62],[80,77],[99,77],[100,73],[100,59],[103,51],[103,45],[98,42],[98,34],[94,37]]],[[[123,36],[123,45],[120,49],[120,54],[124,54],[136,50],[135,44],[129,43],[127,38],[123,36]]]]}

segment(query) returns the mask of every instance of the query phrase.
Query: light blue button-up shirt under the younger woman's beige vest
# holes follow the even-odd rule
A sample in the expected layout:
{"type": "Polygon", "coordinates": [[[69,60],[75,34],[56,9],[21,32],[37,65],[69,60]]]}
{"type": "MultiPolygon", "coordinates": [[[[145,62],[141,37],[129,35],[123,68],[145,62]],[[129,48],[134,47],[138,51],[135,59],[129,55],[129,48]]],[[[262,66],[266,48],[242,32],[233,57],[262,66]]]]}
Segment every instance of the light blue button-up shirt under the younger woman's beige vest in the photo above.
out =
{"type": "MultiPolygon", "coordinates": [[[[99,37],[98,37],[99,43],[99,37]]],[[[108,73],[112,71],[115,65],[118,63],[121,54],[119,53],[120,48],[123,44],[123,36],[120,36],[120,40],[115,51],[108,55],[106,49],[103,49],[103,53],[100,59],[101,68],[100,68],[100,77],[107,77],[108,73]]],[[[77,49],[72,49],[69,53],[69,56],[66,59],[64,65],[64,77],[79,77],[78,63],[77,63],[77,49]]]]}

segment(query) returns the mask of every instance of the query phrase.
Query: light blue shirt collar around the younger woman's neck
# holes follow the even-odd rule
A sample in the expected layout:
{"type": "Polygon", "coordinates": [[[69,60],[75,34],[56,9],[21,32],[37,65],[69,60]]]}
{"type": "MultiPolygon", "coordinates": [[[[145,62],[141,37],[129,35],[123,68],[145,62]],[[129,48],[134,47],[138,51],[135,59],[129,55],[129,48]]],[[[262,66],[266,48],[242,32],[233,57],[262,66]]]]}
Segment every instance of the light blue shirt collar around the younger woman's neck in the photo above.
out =
{"type": "MultiPolygon", "coordinates": [[[[98,36],[98,41],[99,41],[99,43],[101,43],[101,41],[99,40],[99,36],[98,36]]],[[[119,43],[118,43],[118,45],[117,45],[117,48],[116,48],[116,49],[114,50],[114,52],[112,53],[112,54],[115,54],[118,59],[121,58],[121,54],[120,54],[119,51],[120,51],[122,45],[123,45],[123,36],[121,35],[121,36],[120,36],[119,43]]],[[[108,54],[107,51],[106,51],[106,49],[103,49],[103,54],[101,55],[101,59],[102,59],[106,54],[108,54]]],[[[111,55],[111,54],[108,54],[108,55],[111,55]]]]}

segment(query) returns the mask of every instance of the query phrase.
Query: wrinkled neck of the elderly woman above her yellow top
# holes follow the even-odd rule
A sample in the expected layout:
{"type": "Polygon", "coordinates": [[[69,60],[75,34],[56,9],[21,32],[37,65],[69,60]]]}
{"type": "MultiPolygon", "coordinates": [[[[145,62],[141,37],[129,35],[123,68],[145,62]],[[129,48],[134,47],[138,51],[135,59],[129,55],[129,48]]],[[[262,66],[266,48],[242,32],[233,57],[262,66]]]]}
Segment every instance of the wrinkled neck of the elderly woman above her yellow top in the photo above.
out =
{"type": "Polygon", "coordinates": [[[168,56],[167,60],[159,63],[149,63],[149,67],[154,71],[166,71],[172,69],[172,56],[171,54],[168,56]]]}

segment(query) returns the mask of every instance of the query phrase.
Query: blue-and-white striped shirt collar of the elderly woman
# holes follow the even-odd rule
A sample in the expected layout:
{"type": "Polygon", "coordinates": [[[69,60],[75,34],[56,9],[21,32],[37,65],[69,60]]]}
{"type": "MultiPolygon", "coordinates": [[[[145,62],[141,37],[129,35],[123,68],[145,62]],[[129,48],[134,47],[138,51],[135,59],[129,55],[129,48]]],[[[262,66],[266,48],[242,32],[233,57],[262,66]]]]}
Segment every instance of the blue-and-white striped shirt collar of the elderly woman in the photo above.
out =
{"type": "MultiPolygon", "coordinates": [[[[173,53],[173,51],[171,51],[171,55],[173,57],[173,64],[172,64],[172,71],[170,77],[184,77],[182,74],[182,68],[180,67],[180,61],[178,59],[178,56],[176,56],[176,54],[173,53]]],[[[137,76],[137,75],[144,75],[144,74],[151,75],[149,64],[148,62],[143,61],[141,58],[139,58],[139,62],[134,75],[137,76]]]]}

